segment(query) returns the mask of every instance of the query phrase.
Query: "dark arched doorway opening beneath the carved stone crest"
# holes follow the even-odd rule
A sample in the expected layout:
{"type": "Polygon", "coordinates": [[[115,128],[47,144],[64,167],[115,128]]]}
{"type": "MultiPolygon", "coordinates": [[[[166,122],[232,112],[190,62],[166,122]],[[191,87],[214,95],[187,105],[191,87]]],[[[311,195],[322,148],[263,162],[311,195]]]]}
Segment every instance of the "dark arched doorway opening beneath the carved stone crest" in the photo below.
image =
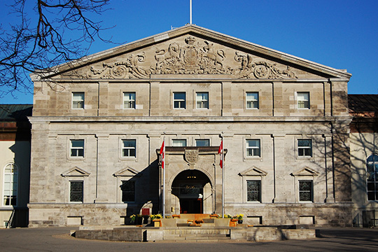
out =
{"type": "Polygon", "coordinates": [[[172,183],[172,195],[179,199],[180,214],[211,213],[211,182],[203,172],[189,169],[179,173],[172,183]]]}

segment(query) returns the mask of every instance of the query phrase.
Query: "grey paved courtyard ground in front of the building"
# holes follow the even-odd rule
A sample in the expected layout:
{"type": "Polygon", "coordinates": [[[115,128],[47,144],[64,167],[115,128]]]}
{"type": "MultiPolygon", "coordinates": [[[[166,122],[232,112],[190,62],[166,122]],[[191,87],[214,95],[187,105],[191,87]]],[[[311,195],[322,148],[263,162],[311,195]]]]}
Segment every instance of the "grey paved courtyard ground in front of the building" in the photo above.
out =
{"type": "Polygon", "coordinates": [[[0,230],[0,251],[378,251],[378,228],[321,228],[307,241],[169,243],[76,239],[74,228],[0,230]]]}

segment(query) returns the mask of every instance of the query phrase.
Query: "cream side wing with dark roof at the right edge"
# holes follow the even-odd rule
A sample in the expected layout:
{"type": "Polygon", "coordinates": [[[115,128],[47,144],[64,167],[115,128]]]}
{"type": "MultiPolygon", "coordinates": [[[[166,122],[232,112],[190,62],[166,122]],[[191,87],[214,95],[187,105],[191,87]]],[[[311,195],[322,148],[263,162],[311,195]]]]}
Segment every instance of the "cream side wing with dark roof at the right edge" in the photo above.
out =
{"type": "Polygon", "coordinates": [[[378,225],[378,94],[349,94],[353,225],[378,225]]]}

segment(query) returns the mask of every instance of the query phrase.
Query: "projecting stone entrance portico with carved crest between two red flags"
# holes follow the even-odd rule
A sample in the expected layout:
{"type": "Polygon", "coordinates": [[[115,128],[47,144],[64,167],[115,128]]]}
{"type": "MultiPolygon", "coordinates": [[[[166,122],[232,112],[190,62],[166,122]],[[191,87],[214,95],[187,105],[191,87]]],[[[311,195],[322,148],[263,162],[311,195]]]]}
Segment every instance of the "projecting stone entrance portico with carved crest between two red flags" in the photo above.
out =
{"type": "MultiPolygon", "coordinates": [[[[165,214],[221,214],[222,169],[218,164],[218,146],[166,147],[165,214]]],[[[160,166],[160,200],[162,176],[160,166]]]]}

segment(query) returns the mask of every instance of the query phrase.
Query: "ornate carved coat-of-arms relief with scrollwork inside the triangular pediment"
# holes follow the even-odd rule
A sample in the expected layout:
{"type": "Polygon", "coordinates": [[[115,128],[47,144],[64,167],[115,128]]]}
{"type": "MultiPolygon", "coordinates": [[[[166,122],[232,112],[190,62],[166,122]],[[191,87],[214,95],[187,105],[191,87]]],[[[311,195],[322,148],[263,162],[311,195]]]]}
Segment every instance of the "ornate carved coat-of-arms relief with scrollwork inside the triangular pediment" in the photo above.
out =
{"type": "Polygon", "coordinates": [[[230,74],[233,78],[297,78],[289,66],[278,66],[188,36],[155,50],[151,59],[146,53],[130,55],[125,60],[100,67],[91,66],[83,78],[150,78],[151,74],[230,74]],[[181,42],[181,43],[180,43],[181,42]],[[230,54],[230,51],[228,51],[230,54]],[[155,64],[154,64],[155,63],[155,64]]]}

